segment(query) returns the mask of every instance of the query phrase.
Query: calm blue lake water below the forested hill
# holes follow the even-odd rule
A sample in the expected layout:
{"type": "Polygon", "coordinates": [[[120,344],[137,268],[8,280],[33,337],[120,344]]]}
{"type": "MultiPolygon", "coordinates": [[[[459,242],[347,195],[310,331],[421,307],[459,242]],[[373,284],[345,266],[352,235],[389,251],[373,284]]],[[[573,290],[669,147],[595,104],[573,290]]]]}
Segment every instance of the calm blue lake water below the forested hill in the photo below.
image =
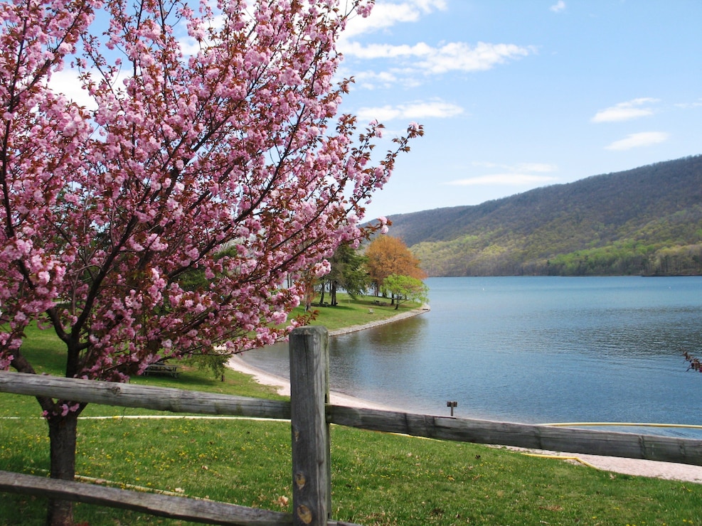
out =
{"type": "MultiPolygon", "coordinates": [[[[682,356],[702,358],[702,277],[426,283],[430,312],[331,338],[334,390],[431,414],[454,400],[457,416],[511,422],[702,424],[702,374],[682,356]]],[[[286,345],[246,354],[287,374],[286,345]]]]}

